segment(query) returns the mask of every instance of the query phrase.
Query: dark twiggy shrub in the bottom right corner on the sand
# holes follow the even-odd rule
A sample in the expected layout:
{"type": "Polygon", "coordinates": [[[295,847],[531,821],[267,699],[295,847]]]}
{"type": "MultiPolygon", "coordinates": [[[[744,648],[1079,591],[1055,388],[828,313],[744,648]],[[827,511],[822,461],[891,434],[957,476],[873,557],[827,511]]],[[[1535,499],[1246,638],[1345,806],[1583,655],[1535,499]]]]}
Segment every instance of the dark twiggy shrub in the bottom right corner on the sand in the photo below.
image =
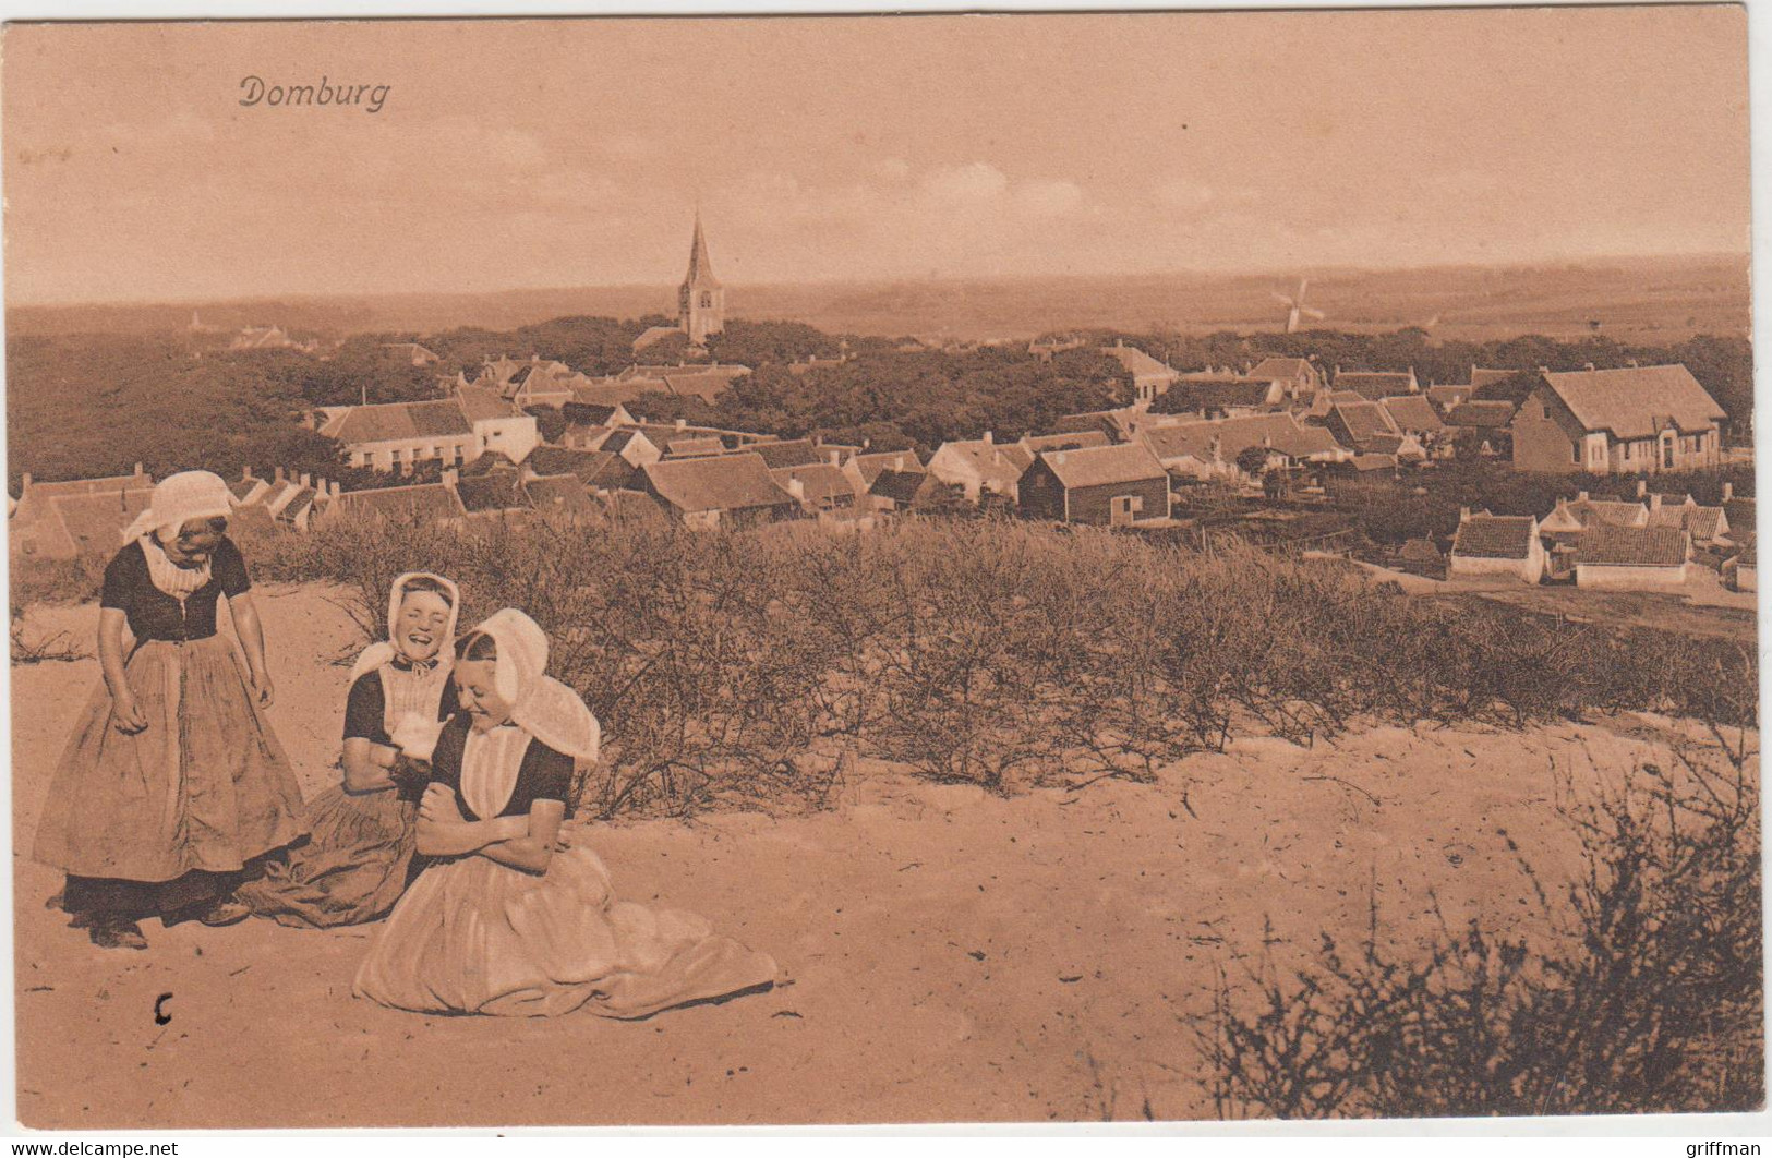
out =
{"type": "Polygon", "coordinates": [[[1292,977],[1263,967],[1246,992],[1221,976],[1200,1029],[1217,1114],[1763,1105],[1760,793],[1722,756],[1565,791],[1584,871],[1561,907],[1540,892],[1554,926],[1542,946],[1471,923],[1405,960],[1379,944],[1375,912],[1352,956],[1324,935],[1317,965],[1292,977]]]}

